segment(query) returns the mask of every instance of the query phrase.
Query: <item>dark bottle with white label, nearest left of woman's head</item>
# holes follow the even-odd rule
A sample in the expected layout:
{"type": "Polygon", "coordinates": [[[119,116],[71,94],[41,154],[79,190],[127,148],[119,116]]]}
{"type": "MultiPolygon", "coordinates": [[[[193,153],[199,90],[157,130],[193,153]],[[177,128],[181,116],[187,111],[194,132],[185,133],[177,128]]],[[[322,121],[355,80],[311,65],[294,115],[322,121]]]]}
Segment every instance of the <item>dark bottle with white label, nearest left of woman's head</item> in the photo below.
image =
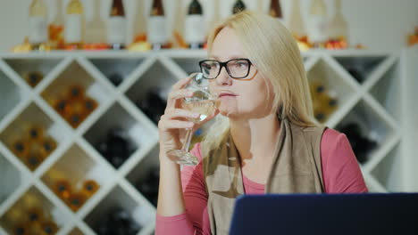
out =
{"type": "Polygon", "coordinates": [[[202,5],[193,0],[188,5],[184,38],[191,49],[202,48],[205,41],[205,20],[202,5]]]}

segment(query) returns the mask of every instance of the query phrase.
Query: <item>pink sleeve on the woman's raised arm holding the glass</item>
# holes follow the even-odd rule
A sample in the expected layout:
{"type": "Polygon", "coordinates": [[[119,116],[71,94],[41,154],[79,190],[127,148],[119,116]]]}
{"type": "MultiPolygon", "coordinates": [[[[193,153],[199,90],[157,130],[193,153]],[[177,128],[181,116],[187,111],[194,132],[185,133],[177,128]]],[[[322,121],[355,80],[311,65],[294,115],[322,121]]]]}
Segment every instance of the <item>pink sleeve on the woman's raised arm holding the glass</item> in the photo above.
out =
{"type": "Polygon", "coordinates": [[[182,166],[181,169],[181,184],[186,213],[173,216],[156,215],[156,235],[211,234],[200,143],[197,143],[190,152],[199,159],[199,164],[196,166],[182,166]]]}

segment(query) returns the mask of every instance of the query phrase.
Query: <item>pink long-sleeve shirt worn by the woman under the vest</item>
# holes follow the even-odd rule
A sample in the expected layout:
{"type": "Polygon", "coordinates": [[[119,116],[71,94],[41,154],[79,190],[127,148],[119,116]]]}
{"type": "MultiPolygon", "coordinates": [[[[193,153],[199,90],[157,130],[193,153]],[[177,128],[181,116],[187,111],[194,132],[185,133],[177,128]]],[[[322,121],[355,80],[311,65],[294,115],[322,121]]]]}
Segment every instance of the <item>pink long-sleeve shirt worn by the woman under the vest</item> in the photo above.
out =
{"type": "MultiPolygon", "coordinates": [[[[200,143],[191,152],[200,162],[196,166],[184,166],[181,170],[186,212],[174,216],[156,215],[156,235],[211,234],[200,143]]],[[[367,192],[360,167],[345,134],[330,128],[325,130],[321,140],[321,159],[325,192],[367,192]]],[[[264,184],[253,182],[244,174],[243,183],[247,194],[264,193],[264,184]]]]}

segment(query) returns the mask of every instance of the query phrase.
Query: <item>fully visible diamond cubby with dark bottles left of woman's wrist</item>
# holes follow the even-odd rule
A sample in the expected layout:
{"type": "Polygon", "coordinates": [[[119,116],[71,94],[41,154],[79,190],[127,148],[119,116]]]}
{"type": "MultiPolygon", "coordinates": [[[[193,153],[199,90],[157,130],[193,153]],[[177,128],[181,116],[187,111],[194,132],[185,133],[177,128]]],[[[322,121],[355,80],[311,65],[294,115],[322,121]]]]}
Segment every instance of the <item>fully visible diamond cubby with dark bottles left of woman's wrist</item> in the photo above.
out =
{"type": "Polygon", "coordinates": [[[157,141],[154,129],[138,121],[118,102],[90,127],[84,137],[115,168],[122,166],[132,155],[138,156],[136,152],[144,155],[143,151],[157,141]]]}

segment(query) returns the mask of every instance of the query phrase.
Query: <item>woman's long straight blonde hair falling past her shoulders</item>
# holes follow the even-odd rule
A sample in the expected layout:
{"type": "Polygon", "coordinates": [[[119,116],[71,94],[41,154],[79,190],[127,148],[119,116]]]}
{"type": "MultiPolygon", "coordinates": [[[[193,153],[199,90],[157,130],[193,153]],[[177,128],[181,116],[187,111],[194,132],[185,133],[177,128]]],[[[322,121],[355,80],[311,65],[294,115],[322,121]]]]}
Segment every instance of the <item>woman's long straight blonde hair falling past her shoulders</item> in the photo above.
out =
{"type": "MultiPolygon", "coordinates": [[[[212,51],[215,37],[227,27],[235,30],[248,59],[272,84],[272,91],[267,90],[267,95],[274,95],[272,109],[278,111],[280,119],[288,118],[298,126],[316,126],[303,59],[288,29],[267,14],[239,12],[212,29],[207,41],[208,53],[212,51]]],[[[214,119],[202,143],[204,156],[219,146],[229,128],[228,118],[218,115],[214,119]]]]}

